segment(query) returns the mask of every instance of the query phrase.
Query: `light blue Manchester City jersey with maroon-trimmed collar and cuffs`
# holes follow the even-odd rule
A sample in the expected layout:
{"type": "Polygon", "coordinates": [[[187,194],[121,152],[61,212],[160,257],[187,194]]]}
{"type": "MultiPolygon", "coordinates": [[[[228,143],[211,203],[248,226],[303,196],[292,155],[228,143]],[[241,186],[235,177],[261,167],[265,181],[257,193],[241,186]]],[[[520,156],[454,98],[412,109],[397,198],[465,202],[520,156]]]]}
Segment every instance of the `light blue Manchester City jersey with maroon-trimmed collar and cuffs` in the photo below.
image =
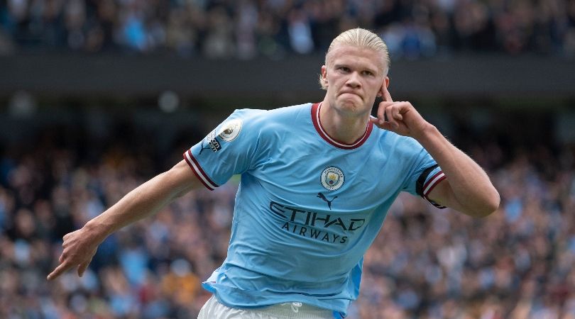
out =
{"type": "Polygon", "coordinates": [[[184,153],[208,189],[241,174],[226,260],[204,282],[226,306],[298,301],[344,316],[400,191],[427,198],[445,178],[416,140],[372,123],[351,145],[330,138],[320,108],[237,110],[184,153]]]}

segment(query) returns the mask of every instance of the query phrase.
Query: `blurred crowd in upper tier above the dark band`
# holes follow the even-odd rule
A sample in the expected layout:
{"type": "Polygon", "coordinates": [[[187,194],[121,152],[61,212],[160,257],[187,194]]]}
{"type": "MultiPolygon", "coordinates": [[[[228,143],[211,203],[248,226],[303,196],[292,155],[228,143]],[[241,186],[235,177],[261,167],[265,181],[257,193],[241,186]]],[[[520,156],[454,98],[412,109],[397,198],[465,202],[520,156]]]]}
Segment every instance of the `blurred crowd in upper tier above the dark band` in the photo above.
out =
{"type": "Polygon", "coordinates": [[[575,0],[1,0],[0,55],[325,52],[342,30],[380,34],[394,59],[454,52],[575,56],[575,0]]]}

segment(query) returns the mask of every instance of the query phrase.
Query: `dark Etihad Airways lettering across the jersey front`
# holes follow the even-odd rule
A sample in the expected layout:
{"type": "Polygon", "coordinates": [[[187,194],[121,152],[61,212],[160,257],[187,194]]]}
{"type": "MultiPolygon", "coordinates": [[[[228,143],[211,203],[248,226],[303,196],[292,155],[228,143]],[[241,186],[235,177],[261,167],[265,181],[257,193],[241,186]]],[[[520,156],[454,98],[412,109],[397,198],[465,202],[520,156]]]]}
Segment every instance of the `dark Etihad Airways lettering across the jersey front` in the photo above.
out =
{"type": "Polygon", "coordinates": [[[337,235],[334,231],[338,233],[341,233],[341,230],[354,232],[366,223],[365,218],[348,218],[305,211],[275,201],[270,201],[270,211],[285,220],[281,226],[283,230],[324,242],[344,244],[348,240],[348,236],[337,235]]]}

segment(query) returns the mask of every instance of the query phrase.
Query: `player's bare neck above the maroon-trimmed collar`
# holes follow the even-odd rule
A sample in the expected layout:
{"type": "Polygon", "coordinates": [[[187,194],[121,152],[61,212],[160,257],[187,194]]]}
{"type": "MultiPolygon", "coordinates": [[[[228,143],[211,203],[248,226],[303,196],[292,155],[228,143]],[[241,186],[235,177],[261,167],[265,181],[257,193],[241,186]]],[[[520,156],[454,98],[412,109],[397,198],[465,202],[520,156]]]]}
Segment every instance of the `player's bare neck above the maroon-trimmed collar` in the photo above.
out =
{"type": "Polygon", "coordinates": [[[353,144],[366,133],[369,114],[344,114],[323,101],[319,109],[319,123],[329,137],[345,144],[353,144]]]}

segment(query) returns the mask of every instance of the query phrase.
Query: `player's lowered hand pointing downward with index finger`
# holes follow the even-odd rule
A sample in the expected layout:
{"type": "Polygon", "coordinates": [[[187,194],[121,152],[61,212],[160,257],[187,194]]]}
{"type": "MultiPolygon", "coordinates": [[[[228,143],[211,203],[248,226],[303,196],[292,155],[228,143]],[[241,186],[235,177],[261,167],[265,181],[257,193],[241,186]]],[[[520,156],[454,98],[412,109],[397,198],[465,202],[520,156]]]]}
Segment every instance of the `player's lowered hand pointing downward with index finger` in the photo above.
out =
{"type": "Polygon", "coordinates": [[[57,276],[73,267],[78,267],[78,276],[84,275],[101,242],[101,240],[89,235],[86,228],[68,233],[62,239],[64,240],[62,242],[64,250],[62,250],[60,259],[58,259],[60,264],[46,277],[48,280],[57,278],[57,276]]]}

